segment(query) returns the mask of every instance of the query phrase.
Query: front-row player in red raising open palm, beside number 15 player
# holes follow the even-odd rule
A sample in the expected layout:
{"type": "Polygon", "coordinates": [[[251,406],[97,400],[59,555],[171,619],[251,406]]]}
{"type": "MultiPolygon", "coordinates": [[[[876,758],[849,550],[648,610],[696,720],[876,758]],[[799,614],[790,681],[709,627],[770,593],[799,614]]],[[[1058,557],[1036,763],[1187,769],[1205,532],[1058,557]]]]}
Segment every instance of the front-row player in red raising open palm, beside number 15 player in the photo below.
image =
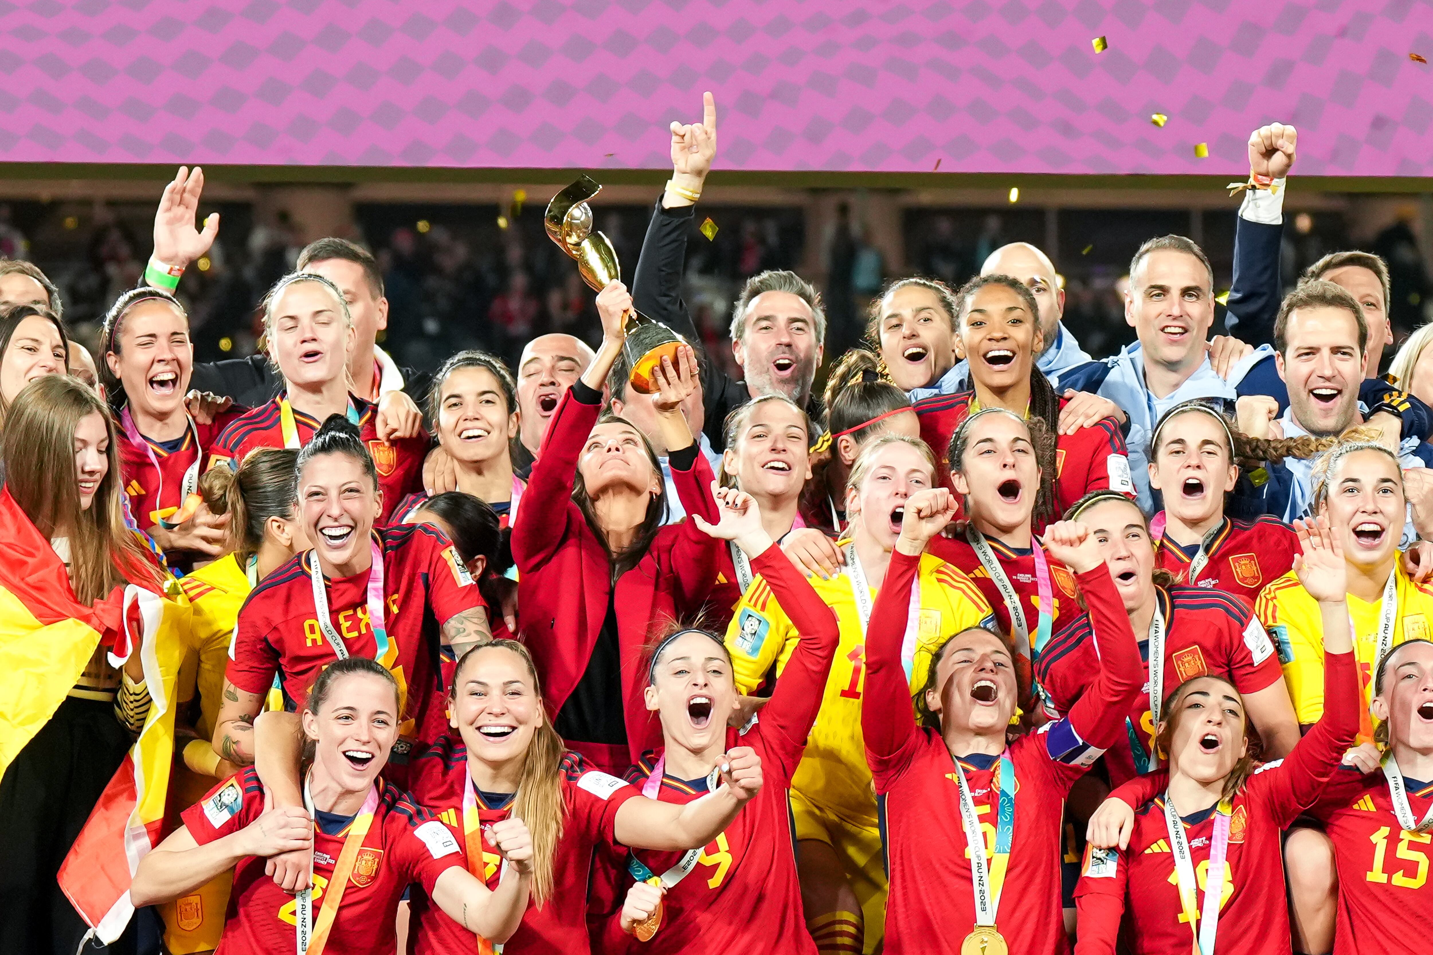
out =
{"type": "Polygon", "coordinates": [[[1340,534],[1323,517],[1297,528],[1294,573],[1323,623],[1323,716],[1283,762],[1255,772],[1240,690],[1221,676],[1182,679],[1156,722],[1168,772],[1112,793],[1135,808],[1134,822],[1119,840],[1099,839],[1103,848],[1092,839],[1085,856],[1076,955],[1113,955],[1122,922],[1136,955],[1187,955],[1191,945],[1221,955],[1290,951],[1284,829],[1323,795],[1360,710],[1340,534]]]}

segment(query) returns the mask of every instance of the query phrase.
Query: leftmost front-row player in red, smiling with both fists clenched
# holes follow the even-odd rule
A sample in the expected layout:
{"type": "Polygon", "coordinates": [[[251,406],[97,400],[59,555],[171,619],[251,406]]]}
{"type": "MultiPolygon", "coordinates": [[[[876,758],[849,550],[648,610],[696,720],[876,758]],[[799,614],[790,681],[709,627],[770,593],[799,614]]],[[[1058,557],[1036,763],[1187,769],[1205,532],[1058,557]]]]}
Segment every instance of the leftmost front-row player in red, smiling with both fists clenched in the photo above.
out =
{"type": "Polygon", "coordinates": [[[334,661],[302,710],[302,802],[277,805],[269,780],[252,767],[219,783],[140,861],[130,885],[135,905],[175,899],[232,866],[231,916],[219,945],[226,954],[288,951],[297,934],[307,955],[387,955],[410,883],[464,926],[463,944],[450,951],[509,939],[532,885],[527,828],[519,818],[492,826],[502,871],[494,888],[463,866],[454,832],[381,777],[398,739],[401,697],[381,663],[334,661]],[[312,879],[304,872],[285,891],[265,875],[284,853],[302,855],[312,879]]]}

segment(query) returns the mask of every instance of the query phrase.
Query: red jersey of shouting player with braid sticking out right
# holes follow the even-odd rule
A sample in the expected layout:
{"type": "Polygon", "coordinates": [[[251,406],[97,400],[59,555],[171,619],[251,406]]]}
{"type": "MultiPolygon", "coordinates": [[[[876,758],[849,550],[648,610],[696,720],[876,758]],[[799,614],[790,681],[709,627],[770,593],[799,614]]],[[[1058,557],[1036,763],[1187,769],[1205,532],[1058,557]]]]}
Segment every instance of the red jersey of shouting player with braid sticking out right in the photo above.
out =
{"type": "MultiPolygon", "coordinates": [[[[1208,563],[1191,586],[1222,590],[1254,603],[1265,586],[1294,568],[1298,551],[1298,534],[1277,517],[1225,518],[1207,551],[1208,563]]],[[[1189,584],[1189,563],[1198,553],[1198,544],[1181,547],[1166,531],[1155,546],[1155,567],[1172,573],[1176,583],[1189,584]]]]}

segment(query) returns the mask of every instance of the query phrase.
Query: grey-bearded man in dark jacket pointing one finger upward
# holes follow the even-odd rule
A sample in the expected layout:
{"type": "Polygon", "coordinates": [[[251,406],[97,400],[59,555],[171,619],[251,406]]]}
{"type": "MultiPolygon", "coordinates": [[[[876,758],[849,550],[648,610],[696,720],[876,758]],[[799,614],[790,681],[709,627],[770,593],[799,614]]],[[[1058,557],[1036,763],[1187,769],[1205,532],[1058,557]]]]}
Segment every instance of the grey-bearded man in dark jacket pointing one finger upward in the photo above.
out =
{"type": "MultiPolygon", "coordinates": [[[[632,281],[636,311],[665,324],[696,349],[702,339],[682,299],[682,269],[692,213],[716,156],[716,105],[711,93],[702,94],[702,122],[671,126],[672,178],[652,213],[632,281]]],[[[825,312],[814,285],[785,269],[747,279],[731,312],[731,349],[745,378],[734,379],[711,355],[701,362],[711,447],[722,450],[727,415],[762,394],[782,394],[818,420],[820,401],[811,394],[811,382],[824,342],[825,312]]]]}

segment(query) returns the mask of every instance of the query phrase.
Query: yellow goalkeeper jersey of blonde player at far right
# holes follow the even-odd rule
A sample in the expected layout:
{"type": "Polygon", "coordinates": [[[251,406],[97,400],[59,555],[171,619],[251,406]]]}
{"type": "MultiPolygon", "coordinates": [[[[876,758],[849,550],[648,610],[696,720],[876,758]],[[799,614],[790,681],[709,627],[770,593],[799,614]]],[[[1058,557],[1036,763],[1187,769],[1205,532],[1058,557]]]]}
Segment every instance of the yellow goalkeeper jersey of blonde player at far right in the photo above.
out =
{"type": "MultiPolygon", "coordinates": [[[[1397,574],[1399,610],[1393,619],[1393,643],[1429,639],[1433,631],[1433,584],[1416,584],[1403,573],[1403,560],[1394,566],[1397,574]]],[[[1348,594],[1348,616],[1353,619],[1353,654],[1358,663],[1363,687],[1363,707],[1358,742],[1373,739],[1369,703],[1373,700],[1373,667],[1379,656],[1379,620],[1381,600],[1367,601],[1348,594]]],[[[1294,713],[1301,724],[1317,723],[1324,714],[1324,629],[1318,601],[1288,571],[1260,594],[1254,611],[1278,647],[1278,661],[1284,666],[1284,683],[1294,700],[1294,713]]]]}

